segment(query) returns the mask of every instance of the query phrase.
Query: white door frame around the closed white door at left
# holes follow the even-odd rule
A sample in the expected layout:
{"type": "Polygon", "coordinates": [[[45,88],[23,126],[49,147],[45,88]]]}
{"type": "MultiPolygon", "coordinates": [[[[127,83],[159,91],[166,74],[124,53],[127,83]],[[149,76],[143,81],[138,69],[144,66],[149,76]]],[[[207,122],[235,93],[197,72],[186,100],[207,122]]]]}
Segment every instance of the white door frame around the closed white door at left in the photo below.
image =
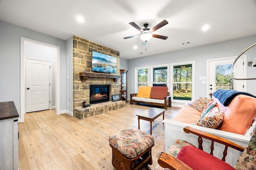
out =
{"type": "MultiPolygon", "coordinates": [[[[41,60],[41,59],[35,59],[35,58],[29,58],[29,57],[24,57],[24,61],[25,61],[25,69],[26,69],[26,59],[29,59],[29,60],[35,60],[35,61],[44,61],[44,62],[48,62],[50,63],[50,84],[52,84],[52,61],[48,61],[48,60],[41,60]]],[[[24,76],[24,79],[25,79],[25,88],[26,88],[26,71],[25,71],[25,76],[24,76]]],[[[26,90],[25,90],[25,99],[26,99],[26,90]]],[[[50,86],[50,89],[49,89],[49,99],[50,99],[50,105],[49,105],[49,109],[51,110],[52,109],[52,85],[50,86]]],[[[26,101],[26,100],[25,100],[26,101]]],[[[25,106],[26,106],[26,102],[25,102],[25,106]]],[[[25,107],[25,113],[26,113],[26,107],[25,107]]]]}

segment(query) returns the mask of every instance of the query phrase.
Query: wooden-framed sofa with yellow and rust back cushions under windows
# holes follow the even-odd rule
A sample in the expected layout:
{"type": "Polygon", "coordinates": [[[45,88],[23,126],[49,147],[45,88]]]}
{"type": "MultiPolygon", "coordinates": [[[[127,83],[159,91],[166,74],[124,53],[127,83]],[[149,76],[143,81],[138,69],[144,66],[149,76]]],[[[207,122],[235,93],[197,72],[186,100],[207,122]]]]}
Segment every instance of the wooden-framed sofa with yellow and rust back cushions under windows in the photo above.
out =
{"type": "Polygon", "coordinates": [[[171,107],[171,97],[168,87],[164,86],[139,86],[138,93],[130,94],[130,104],[150,104],[155,106],[171,107]]]}

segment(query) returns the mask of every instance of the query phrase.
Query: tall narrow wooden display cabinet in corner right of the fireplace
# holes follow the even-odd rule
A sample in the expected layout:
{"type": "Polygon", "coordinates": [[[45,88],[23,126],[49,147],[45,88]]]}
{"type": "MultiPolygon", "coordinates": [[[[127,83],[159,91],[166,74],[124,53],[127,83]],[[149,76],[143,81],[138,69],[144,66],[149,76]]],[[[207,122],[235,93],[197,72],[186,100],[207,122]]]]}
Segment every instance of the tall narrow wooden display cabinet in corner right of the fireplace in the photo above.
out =
{"type": "Polygon", "coordinates": [[[121,100],[127,101],[127,72],[128,70],[120,70],[120,82],[119,82],[119,90],[120,90],[120,97],[121,100]]]}

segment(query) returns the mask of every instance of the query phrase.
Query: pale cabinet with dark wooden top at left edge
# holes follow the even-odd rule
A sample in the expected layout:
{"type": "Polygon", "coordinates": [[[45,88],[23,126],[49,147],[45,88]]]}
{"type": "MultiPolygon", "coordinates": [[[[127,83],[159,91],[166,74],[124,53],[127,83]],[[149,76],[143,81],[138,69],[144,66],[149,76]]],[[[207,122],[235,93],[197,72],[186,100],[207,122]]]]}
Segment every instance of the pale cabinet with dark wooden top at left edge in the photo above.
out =
{"type": "Polygon", "coordinates": [[[18,116],[14,102],[0,102],[0,170],[18,169],[18,116]]]}

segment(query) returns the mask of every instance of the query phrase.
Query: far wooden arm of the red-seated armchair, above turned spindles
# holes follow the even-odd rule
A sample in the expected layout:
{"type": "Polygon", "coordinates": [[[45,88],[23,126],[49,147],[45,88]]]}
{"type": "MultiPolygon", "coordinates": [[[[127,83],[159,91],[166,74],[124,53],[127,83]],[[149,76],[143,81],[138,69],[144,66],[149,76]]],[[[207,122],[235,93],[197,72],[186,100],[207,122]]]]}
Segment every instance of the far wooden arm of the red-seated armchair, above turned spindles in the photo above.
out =
{"type": "Polygon", "coordinates": [[[227,147],[231,147],[231,148],[239,150],[241,152],[244,151],[244,147],[242,147],[240,145],[237,145],[236,143],[233,143],[231,141],[228,141],[228,140],[226,140],[222,137],[218,137],[218,136],[212,135],[210,133],[202,132],[198,129],[194,129],[194,128],[189,127],[189,126],[184,127],[183,130],[186,133],[193,133],[193,134],[195,134],[199,137],[203,137],[205,139],[208,139],[208,140],[211,140],[211,141],[214,141],[214,142],[217,142],[217,143],[221,143],[222,145],[226,145],[227,147]]]}

